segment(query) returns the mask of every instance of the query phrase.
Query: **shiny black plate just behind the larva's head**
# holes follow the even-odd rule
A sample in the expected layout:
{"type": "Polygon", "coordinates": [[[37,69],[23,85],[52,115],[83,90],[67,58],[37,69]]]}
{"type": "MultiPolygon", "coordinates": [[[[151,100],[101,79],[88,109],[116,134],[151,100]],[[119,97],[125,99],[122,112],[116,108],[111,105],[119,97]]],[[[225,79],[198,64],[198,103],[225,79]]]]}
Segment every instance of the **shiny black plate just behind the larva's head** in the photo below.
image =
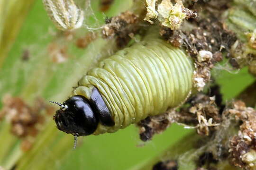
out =
{"type": "Polygon", "coordinates": [[[93,112],[100,119],[100,122],[104,126],[114,126],[115,122],[112,119],[110,110],[104,102],[99,90],[94,87],[91,92],[90,104],[93,112]]]}

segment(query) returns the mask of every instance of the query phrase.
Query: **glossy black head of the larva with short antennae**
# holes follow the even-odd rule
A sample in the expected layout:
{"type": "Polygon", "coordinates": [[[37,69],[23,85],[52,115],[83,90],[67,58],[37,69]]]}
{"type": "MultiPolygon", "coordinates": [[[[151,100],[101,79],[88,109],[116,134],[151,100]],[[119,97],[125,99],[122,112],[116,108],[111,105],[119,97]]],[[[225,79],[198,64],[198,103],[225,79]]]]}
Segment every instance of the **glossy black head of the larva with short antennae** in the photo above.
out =
{"type": "Polygon", "coordinates": [[[97,128],[99,120],[94,115],[88,99],[82,95],[74,95],[61,106],[54,116],[57,128],[74,136],[91,135],[97,128]]]}

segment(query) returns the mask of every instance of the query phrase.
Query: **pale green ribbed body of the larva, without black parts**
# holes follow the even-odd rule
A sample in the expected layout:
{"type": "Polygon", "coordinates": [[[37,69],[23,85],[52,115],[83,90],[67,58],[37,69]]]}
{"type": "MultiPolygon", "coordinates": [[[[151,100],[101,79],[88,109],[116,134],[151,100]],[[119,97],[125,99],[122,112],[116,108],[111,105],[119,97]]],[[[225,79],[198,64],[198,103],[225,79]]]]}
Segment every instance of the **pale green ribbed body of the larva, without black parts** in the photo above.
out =
{"type": "Polygon", "coordinates": [[[100,62],[78,82],[73,95],[90,99],[97,87],[115,126],[99,123],[93,133],[115,132],[184,102],[192,91],[192,60],[161,39],[146,39],[100,62]]]}

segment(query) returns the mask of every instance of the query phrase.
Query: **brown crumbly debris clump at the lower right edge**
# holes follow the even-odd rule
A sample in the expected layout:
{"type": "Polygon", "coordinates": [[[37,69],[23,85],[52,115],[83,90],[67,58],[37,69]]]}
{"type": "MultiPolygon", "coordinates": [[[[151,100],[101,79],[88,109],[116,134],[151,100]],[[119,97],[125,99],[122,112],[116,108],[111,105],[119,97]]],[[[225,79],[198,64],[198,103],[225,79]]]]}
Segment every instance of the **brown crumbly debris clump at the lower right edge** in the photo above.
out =
{"type": "Polygon", "coordinates": [[[230,162],[244,170],[256,168],[256,110],[246,107],[242,101],[232,103],[224,114],[233,116],[240,125],[238,135],[230,140],[230,162]]]}

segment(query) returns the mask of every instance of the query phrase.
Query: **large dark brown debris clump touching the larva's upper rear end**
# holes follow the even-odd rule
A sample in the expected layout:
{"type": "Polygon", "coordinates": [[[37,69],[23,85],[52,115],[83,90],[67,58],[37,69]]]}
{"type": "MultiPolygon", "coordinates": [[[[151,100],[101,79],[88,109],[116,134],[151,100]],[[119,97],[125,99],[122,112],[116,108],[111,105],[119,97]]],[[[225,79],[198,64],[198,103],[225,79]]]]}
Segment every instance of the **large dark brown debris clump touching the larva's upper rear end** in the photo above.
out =
{"type": "Polygon", "coordinates": [[[184,47],[194,59],[193,81],[198,91],[202,91],[210,81],[210,69],[222,60],[222,53],[230,56],[230,49],[237,40],[235,34],[227,30],[219,20],[223,10],[228,8],[227,2],[229,0],[193,3],[190,8],[204,17],[192,17],[180,29],[174,30],[167,26],[160,29],[160,34],[167,42],[175,47],[184,47]]]}

